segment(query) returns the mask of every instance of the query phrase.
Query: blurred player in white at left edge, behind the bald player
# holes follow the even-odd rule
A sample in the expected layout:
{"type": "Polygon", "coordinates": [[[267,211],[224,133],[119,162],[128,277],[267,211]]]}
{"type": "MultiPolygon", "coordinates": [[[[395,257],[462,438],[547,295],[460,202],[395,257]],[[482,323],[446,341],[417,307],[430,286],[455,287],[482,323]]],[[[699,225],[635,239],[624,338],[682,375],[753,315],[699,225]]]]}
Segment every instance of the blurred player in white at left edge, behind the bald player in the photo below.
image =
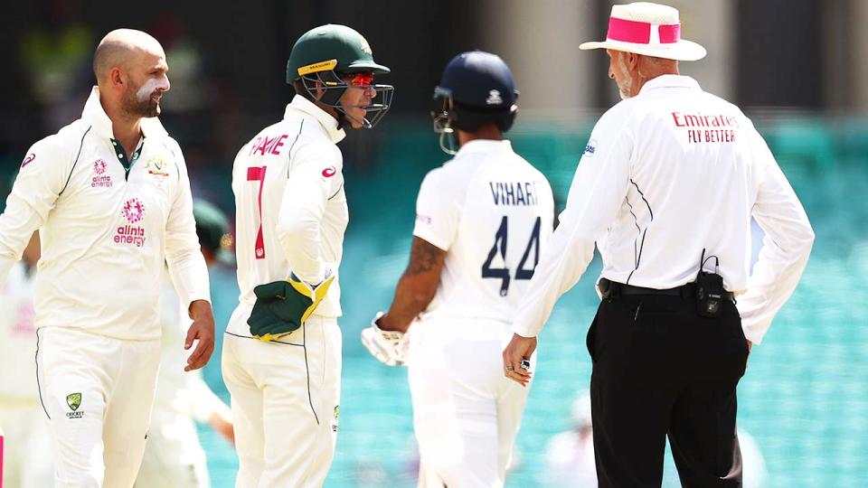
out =
{"type": "Polygon", "coordinates": [[[3,486],[51,486],[52,439],[36,389],[36,328],[33,277],[39,260],[39,234],[0,286],[0,428],[5,434],[3,486]]]}

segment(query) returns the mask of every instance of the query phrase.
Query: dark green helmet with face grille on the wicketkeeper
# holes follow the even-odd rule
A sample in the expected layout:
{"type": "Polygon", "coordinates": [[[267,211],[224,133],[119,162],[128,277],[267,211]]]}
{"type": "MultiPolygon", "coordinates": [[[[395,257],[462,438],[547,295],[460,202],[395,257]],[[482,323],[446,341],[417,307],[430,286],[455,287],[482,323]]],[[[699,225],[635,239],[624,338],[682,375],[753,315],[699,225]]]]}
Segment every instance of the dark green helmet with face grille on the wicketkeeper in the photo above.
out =
{"type": "Polygon", "coordinates": [[[328,23],[298,38],[287,61],[287,83],[302,80],[313,99],[335,108],[341,117],[352,117],[339,103],[346,89],[373,90],[371,104],[359,107],[364,108],[366,117],[357,120],[363,127],[371,128],[386,115],[394,93],[392,85],[372,85],[373,75],[390,71],[373,61],[371,46],[362,34],[346,25],[328,23]],[[318,97],[317,89],[322,90],[318,97]]]}

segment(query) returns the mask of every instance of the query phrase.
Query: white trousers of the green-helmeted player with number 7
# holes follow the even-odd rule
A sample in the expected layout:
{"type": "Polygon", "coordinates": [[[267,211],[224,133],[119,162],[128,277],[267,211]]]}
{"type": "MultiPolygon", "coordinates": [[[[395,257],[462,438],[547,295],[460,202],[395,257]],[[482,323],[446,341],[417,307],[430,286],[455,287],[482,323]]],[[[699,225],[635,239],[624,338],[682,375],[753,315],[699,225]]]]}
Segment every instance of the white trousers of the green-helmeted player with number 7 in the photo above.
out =
{"type": "MultiPolygon", "coordinates": [[[[250,306],[241,305],[231,320],[248,316],[250,306]]],[[[225,335],[222,370],[231,393],[237,488],[325,483],[335,455],[341,347],[337,320],[317,315],[279,343],[225,335]]]]}

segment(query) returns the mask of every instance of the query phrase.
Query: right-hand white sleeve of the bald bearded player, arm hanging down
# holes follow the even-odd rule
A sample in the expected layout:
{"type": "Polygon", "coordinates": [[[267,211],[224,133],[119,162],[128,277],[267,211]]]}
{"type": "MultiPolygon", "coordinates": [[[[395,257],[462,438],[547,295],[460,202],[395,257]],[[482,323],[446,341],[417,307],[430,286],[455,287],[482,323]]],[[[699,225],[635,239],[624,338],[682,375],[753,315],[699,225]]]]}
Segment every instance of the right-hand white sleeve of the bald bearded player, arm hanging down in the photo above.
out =
{"type": "Polygon", "coordinates": [[[190,177],[181,149],[175,145],[178,184],[175,200],[165,222],[165,263],[178,292],[184,310],[196,300],[211,302],[211,286],[208,267],[196,236],[196,221],[193,218],[193,195],[190,192],[190,177]]]}

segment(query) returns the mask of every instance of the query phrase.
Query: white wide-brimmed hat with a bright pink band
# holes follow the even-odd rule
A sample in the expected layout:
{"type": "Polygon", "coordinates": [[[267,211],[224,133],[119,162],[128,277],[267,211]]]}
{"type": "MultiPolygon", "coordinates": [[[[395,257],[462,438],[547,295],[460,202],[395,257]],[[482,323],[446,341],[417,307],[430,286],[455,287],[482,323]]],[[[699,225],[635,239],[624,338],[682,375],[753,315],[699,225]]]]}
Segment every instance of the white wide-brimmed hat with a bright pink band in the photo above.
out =
{"type": "Polygon", "coordinates": [[[579,49],[611,49],[676,61],[705,57],[703,46],[681,38],[677,9],[648,2],[612,5],[606,41],[583,42],[579,49]]]}

